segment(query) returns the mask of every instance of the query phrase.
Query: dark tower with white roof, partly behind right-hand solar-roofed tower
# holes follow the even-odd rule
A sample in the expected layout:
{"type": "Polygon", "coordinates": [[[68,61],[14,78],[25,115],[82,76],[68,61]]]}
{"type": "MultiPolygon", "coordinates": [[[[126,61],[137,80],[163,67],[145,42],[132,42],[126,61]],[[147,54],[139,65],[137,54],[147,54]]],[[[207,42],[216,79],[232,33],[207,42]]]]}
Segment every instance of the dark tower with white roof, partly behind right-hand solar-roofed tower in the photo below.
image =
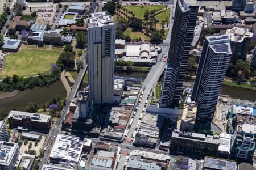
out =
{"type": "Polygon", "coordinates": [[[236,63],[238,58],[245,60],[253,33],[250,32],[249,29],[238,27],[228,29],[226,33],[230,33],[231,35],[230,46],[232,49],[232,56],[230,62],[236,63]]]}

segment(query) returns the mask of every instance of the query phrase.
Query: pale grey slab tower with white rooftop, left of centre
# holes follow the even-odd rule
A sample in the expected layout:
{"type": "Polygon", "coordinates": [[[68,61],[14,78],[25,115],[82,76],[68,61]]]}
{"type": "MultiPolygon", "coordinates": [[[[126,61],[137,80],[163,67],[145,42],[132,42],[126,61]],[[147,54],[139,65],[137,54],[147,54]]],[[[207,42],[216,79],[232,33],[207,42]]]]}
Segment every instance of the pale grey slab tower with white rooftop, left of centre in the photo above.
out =
{"type": "Polygon", "coordinates": [[[112,103],[114,88],[115,24],[105,12],[88,18],[89,99],[112,103]]]}

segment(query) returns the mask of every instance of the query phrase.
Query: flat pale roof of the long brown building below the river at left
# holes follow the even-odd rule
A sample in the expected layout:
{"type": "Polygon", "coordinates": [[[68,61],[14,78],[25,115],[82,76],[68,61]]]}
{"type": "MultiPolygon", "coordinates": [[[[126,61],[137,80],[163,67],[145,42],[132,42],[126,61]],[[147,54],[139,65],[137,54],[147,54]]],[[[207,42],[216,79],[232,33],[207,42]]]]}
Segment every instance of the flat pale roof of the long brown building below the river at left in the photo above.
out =
{"type": "Polygon", "coordinates": [[[38,113],[30,113],[30,112],[20,112],[11,110],[8,118],[16,119],[16,120],[24,120],[31,119],[34,122],[44,122],[48,123],[51,120],[51,116],[45,114],[38,113]]]}

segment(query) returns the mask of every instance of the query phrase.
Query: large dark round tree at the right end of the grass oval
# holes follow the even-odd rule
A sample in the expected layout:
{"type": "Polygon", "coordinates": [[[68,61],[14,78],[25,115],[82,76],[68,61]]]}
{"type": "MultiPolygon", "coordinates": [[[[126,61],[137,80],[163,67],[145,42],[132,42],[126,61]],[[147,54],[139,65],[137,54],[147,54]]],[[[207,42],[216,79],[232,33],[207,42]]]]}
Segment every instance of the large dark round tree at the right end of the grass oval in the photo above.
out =
{"type": "Polygon", "coordinates": [[[73,52],[63,52],[58,59],[63,64],[65,70],[72,70],[75,67],[75,54],[73,52]]]}

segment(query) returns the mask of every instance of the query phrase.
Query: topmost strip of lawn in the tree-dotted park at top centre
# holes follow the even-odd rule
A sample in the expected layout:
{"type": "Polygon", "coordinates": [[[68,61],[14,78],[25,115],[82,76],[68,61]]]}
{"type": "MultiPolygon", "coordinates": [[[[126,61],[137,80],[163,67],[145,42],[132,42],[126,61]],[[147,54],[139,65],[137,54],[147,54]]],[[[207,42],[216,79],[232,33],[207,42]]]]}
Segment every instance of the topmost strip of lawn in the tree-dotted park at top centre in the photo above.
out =
{"type": "Polygon", "coordinates": [[[164,5],[137,5],[137,6],[125,6],[125,8],[131,12],[133,12],[133,14],[135,15],[135,17],[139,18],[139,19],[143,19],[144,18],[144,13],[145,11],[148,9],[148,11],[151,10],[162,10],[164,7],[164,5]]]}

